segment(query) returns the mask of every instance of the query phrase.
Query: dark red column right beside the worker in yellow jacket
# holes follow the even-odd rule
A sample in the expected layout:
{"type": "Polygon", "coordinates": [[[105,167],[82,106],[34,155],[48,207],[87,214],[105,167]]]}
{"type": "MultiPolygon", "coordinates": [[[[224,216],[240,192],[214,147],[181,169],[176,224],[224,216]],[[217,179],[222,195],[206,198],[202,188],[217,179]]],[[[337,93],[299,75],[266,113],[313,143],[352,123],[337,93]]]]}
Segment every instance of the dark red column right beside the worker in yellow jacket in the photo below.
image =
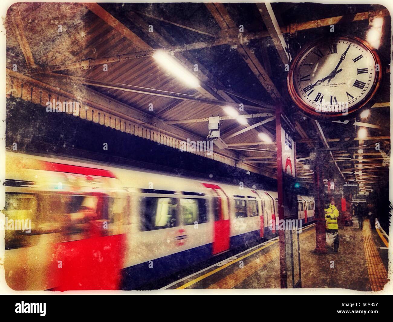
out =
{"type": "Polygon", "coordinates": [[[316,166],[314,170],[315,186],[315,239],[316,247],[314,252],[326,254],[326,229],[325,229],[325,212],[324,212],[324,195],[325,189],[323,184],[323,155],[317,152],[316,166]]]}

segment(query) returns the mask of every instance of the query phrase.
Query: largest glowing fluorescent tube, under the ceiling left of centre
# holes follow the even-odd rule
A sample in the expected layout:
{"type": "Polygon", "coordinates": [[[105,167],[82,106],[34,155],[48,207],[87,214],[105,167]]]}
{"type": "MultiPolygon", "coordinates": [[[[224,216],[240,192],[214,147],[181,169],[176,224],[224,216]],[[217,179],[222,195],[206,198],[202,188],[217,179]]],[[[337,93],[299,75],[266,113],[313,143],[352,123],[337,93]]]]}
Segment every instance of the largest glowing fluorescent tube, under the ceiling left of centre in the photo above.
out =
{"type": "Polygon", "coordinates": [[[154,53],[153,58],[173,76],[180,79],[189,87],[199,87],[198,79],[188,70],[186,70],[180,63],[176,61],[171,55],[158,51],[154,53]]]}

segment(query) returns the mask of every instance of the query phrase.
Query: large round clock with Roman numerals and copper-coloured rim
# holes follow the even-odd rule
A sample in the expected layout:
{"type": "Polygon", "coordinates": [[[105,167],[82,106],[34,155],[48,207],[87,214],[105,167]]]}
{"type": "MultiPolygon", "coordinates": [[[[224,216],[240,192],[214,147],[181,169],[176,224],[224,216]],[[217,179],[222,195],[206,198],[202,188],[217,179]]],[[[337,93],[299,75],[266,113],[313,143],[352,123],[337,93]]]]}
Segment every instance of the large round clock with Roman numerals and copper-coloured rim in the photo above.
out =
{"type": "Polygon", "coordinates": [[[320,39],[306,46],[290,66],[288,91],[305,113],[338,117],[364,106],[378,89],[378,54],[358,37],[320,39]]]}

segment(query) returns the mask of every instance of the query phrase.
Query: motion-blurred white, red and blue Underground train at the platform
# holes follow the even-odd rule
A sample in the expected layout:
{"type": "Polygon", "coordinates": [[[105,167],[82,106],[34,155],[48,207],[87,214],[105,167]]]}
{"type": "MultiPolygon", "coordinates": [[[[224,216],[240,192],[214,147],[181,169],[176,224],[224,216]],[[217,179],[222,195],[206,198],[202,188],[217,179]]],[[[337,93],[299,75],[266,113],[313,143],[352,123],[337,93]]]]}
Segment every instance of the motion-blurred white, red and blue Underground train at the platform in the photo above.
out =
{"type": "MultiPolygon", "coordinates": [[[[303,223],[313,221],[314,206],[298,196],[303,223]]],[[[134,289],[275,237],[277,207],[274,191],[7,152],[6,282],[17,290],[134,289]]]]}

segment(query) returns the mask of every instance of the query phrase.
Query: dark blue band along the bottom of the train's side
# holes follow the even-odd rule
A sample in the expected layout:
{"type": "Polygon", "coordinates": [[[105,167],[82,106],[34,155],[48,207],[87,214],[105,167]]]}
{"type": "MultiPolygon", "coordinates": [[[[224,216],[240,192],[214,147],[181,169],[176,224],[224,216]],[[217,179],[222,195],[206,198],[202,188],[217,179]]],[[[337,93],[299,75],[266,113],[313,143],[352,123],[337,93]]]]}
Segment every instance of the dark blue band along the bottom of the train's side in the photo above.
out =
{"type": "MultiPolygon", "coordinates": [[[[265,239],[273,238],[275,235],[272,231],[265,227],[265,239]]],[[[231,236],[230,249],[248,245],[252,241],[260,239],[259,230],[254,230],[245,234],[231,236]]],[[[136,289],[144,284],[154,282],[159,278],[168,276],[179,270],[185,269],[189,266],[195,265],[201,261],[211,258],[213,255],[213,244],[207,244],[165,257],[157,258],[149,261],[127,267],[122,270],[122,287],[121,289],[131,290],[136,289]],[[149,268],[149,264],[152,268],[149,268]]]]}

